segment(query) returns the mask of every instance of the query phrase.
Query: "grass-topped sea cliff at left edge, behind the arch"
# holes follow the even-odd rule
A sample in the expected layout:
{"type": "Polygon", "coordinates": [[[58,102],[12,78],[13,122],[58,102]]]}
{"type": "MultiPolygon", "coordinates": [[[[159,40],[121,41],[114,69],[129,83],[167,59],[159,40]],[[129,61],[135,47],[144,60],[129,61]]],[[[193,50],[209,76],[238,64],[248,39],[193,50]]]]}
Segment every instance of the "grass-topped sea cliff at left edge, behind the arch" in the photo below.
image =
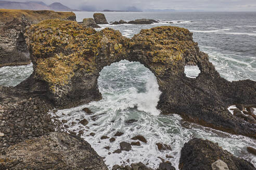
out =
{"type": "Polygon", "coordinates": [[[24,32],[27,26],[46,19],[75,21],[72,12],[0,9],[0,67],[31,62],[24,32]]]}

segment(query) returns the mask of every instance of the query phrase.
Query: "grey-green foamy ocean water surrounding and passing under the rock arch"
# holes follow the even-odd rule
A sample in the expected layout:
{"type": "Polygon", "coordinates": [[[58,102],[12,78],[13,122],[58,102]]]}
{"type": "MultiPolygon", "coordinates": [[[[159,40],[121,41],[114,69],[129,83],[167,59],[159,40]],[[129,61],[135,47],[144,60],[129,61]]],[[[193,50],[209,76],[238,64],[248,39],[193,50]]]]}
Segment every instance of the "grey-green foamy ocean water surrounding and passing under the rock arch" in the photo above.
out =
{"type": "MultiPolygon", "coordinates": [[[[93,12],[75,12],[77,21],[92,18],[93,12]]],[[[109,25],[126,37],[133,37],[141,29],[161,25],[185,27],[194,33],[194,41],[200,50],[209,54],[209,60],[222,77],[229,81],[251,79],[256,81],[256,12],[104,12],[109,22],[121,19],[130,21],[140,18],[159,20],[151,25],[109,25]],[[182,22],[178,22],[182,21],[182,22]],[[172,22],[172,23],[170,23],[172,22]]],[[[100,30],[100,29],[97,29],[100,30]]],[[[16,86],[33,71],[32,65],[0,68],[0,84],[16,86]]],[[[185,73],[195,78],[200,71],[197,67],[187,66],[185,73]]],[[[248,153],[246,147],[256,148],[256,140],[244,136],[216,131],[197,124],[183,122],[176,114],[161,115],[156,109],[161,92],[156,77],[148,68],[138,62],[120,61],[104,67],[98,78],[98,86],[103,100],[91,102],[75,108],[58,110],[49,114],[58,115],[60,120],[68,120],[69,130],[83,130],[82,137],[92,145],[101,157],[105,157],[108,167],[114,164],[143,162],[156,168],[160,158],[170,161],[178,169],[180,151],[188,140],[199,137],[219,143],[236,157],[250,161],[256,167],[256,158],[248,153]],[[86,115],[82,109],[88,107],[94,114],[86,115]],[[93,116],[93,117],[92,117],[93,116]],[[87,119],[87,126],[79,120],[87,119]],[[128,123],[127,120],[135,120],[128,123]],[[73,122],[73,123],[72,123],[73,122]],[[114,137],[116,132],[124,133],[114,137]],[[90,136],[95,133],[95,136],[90,136]],[[147,144],[133,146],[132,150],[112,153],[119,149],[121,141],[131,142],[132,137],[143,135],[147,144]],[[159,151],[156,143],[168,144],[171,151],[159,151]],[[104,147],[109,146],[107,150],[104,147]],[[171,155],[173,158],[166,158],[171,155]]]]}

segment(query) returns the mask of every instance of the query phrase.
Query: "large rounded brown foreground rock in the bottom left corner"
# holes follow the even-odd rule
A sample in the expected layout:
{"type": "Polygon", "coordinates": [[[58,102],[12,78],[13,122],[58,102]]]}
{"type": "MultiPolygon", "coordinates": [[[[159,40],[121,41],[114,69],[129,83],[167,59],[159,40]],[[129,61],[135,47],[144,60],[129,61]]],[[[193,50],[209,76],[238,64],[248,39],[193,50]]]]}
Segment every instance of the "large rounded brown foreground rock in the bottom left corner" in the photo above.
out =
{"type": "Polygon", "coordinates": [[[5,152],[0,154],[0,169],[108,169],[91,145],[67,133],[52,132],[5,152]]]}

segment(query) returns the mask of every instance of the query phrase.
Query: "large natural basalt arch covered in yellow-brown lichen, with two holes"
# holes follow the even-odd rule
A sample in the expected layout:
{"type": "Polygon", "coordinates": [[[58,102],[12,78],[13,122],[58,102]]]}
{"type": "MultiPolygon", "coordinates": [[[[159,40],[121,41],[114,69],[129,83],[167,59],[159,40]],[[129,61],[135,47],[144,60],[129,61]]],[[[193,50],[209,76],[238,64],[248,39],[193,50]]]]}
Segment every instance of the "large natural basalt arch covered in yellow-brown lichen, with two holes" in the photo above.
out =
{"type": "Polygon", "coordinates": [[[256,138],[255,124],[227,110],[233,104],[255,104],[256,82],[222,78],[192,35],[187,29],[161,26],[129,39],[108,28],[97,32],[72,21],[42,21],[27,31],[34,73],[18,88],[43,91],[55,107],[73,107],[101,99],[97,79],[105,66],[136,61],[157,78],[162,114],[177,113],[191,122],[256,138]],[[185,65],[197,65],[201,73],[188,78],[185,65]]]}

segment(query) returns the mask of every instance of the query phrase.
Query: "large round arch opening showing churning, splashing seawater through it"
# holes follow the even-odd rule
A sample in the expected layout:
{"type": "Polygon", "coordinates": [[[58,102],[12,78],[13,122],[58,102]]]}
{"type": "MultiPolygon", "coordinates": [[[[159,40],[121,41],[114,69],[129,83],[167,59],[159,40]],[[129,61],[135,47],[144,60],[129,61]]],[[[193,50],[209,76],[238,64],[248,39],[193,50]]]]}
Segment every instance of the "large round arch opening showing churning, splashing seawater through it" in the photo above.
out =
{"type": "Polygon", "coordinates": [[[100,72],[98,87],[103,100],[114,102],[117,108],[160,114],[156,108],[161,94],[157,78],[139,62],[121,60],[105,66],[100,72]]]}

